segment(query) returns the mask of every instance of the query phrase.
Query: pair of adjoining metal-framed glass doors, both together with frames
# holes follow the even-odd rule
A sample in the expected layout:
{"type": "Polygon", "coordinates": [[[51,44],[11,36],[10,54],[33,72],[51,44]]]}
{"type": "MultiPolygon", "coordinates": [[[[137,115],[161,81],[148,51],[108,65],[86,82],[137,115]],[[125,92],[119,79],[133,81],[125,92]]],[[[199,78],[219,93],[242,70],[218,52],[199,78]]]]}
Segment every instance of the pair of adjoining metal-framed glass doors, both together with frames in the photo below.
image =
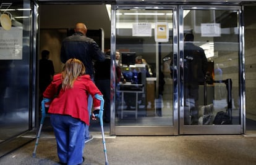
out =
{"type": "Polygon", "coordinates": [[[113,6],[110,133],[241,134],[241,13],[241,6],[113,6]]]}

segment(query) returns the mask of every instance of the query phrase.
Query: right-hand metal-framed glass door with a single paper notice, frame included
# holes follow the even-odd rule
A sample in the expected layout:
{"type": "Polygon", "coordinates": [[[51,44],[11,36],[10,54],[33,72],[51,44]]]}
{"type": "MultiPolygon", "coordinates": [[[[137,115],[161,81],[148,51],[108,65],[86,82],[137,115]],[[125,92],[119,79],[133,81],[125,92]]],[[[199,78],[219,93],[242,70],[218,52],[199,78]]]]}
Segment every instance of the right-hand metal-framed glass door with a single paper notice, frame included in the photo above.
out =
{"type": "Polygon", "coordinates": [[[240,6],[179,7],[179,134],[242,133],[240,17],[240,6]]]}

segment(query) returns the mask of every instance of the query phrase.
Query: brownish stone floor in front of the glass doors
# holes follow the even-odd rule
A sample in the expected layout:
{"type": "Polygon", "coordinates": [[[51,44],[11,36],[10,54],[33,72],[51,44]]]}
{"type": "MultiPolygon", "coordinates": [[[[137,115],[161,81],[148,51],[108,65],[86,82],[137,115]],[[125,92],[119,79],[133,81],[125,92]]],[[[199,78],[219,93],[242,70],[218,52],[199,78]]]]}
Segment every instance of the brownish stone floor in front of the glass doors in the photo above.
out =
{"type": "MultiPolygon", "coordinates": [[[[0,158],[1,165],[58,164],[56,141],[41,138],[33,158],[35,140],[0,158]]],[[[256,137],[243,135],[125,136],[106,137],[106,153],[111,165],[126,164],[256,164],[256,137]]],[[[85,145],[83,164],[105,164],[102,139],[85,145]]]]}

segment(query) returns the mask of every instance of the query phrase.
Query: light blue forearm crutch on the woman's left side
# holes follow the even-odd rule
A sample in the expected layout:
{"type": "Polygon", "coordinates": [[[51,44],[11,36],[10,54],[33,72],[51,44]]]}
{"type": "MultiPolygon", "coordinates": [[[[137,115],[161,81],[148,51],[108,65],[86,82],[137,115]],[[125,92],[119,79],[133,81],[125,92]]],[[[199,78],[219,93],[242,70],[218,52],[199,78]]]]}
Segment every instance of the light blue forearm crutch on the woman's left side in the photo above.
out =
{"type": "Polygon", "coordinates": [[[39,130],[38,130],[38,133],[36,135],[35,148],[34,148],[34,151],[33,151],[33,154],[32,154],[33,158],[35,158],[35,156],[36,156],[36,148],[37,148],[38,141],[39,141],[40,134],[41,134],[41,130],[42,130],[42,127],[43,127],[43,122],[45,121],[45,116],[46,116],[45,103],[50,102],[50,101],[51,101],[50,99],[44,98],[41,102],[41,122],[40,122],[40,127],[39,127],[39,130]]]}

